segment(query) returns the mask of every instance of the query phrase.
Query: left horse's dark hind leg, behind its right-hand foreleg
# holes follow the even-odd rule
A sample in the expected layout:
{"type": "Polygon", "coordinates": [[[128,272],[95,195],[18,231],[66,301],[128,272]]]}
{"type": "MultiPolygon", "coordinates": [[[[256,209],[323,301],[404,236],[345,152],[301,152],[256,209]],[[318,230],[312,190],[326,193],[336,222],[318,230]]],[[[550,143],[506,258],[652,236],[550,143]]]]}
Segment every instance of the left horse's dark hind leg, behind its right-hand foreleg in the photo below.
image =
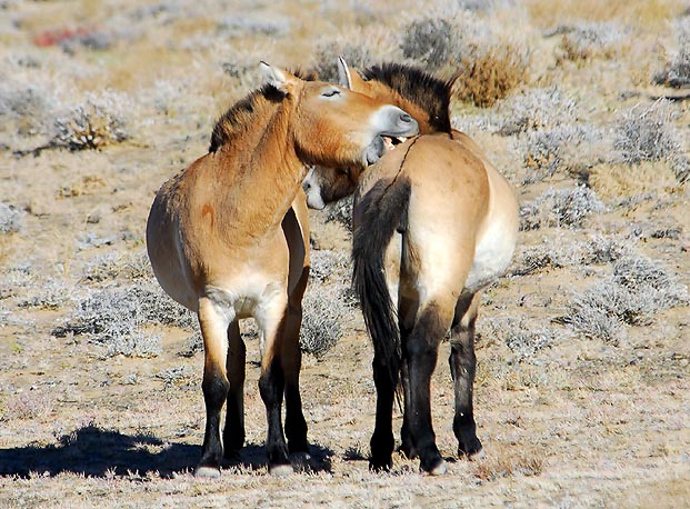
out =
{"type": "Polygon", "coordinates": [[[282,341],[281,361],[286,376],[286,436],[290,453],[309,452],[307,421],[302,413],[302,399],[300,397],[300,369],[302,367],[302,352],[300,350],[301,300],[308,279],[309,270],[304,269],[288,305],[282,341]]]}

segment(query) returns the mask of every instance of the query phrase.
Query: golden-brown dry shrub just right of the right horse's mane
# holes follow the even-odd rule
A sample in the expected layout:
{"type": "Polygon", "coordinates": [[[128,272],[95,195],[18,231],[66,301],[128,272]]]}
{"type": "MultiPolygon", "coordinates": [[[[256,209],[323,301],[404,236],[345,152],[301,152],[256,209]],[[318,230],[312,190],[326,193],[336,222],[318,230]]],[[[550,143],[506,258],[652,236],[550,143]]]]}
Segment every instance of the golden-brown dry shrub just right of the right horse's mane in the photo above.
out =
{"type": "Polygon", "coordinates": [[[457,97],[488,108],[528,80],[529,53],[503,43],[462,58],[453,87],[457,97]]]}

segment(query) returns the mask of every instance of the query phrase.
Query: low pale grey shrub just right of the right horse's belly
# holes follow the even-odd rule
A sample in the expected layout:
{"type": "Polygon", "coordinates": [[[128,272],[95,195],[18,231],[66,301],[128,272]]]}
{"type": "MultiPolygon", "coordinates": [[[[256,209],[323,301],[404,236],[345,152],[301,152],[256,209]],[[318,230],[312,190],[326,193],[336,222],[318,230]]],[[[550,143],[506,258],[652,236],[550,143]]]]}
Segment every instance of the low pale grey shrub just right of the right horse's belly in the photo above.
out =
{"type": "Polygon", "coordinates": [[[606,210],[597,193],[586,187],[549,189],[536,200],[520,207],[520,229],[582,228],[593,213],[606,210]]]}

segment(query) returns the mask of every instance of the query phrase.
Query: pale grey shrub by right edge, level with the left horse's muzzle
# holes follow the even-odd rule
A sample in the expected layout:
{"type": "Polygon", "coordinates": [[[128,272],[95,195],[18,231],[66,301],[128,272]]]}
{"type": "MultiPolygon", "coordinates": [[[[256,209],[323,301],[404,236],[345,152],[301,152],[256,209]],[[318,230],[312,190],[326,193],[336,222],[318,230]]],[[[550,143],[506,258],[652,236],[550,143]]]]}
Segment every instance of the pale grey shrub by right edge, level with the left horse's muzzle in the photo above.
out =
{"type": "Polygon", "coordinates": [[[657,100],[647,108],[634,106],[619,116],[613,131],[616,158],[627,164],[668,161],[676,177],[684,182],[690,163],[682,156],[680,133],[674,126],[678,113],[668,100],[657,100]]]}

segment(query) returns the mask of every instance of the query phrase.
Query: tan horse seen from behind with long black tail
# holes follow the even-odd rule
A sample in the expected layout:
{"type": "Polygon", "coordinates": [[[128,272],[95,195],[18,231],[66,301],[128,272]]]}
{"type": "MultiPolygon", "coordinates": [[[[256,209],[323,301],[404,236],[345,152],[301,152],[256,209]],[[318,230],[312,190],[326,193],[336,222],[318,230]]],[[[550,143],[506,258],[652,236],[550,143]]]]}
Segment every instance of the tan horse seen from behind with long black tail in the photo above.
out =
{"type": "Polygon", "coordinates": [[[477,143],[451,129],[452,81],[397,64],[374,67],[363,78],[343,61],[340,70],[351,89],[409,111],[421,133],[363,173],[318,168],[304,183],[310,204],[338,199],[359,184],[353,280],[374,346],[378,393],[370,466],[391,466],[392,407],[401,375],[401,451],[419,456],[423,471],[443,473],[430,402],[439,343],[450,331],[453,431],[458,453],[472,457],[482,452],[472,407],[479,291],[510,263],[518,203],[477,143]]]}

